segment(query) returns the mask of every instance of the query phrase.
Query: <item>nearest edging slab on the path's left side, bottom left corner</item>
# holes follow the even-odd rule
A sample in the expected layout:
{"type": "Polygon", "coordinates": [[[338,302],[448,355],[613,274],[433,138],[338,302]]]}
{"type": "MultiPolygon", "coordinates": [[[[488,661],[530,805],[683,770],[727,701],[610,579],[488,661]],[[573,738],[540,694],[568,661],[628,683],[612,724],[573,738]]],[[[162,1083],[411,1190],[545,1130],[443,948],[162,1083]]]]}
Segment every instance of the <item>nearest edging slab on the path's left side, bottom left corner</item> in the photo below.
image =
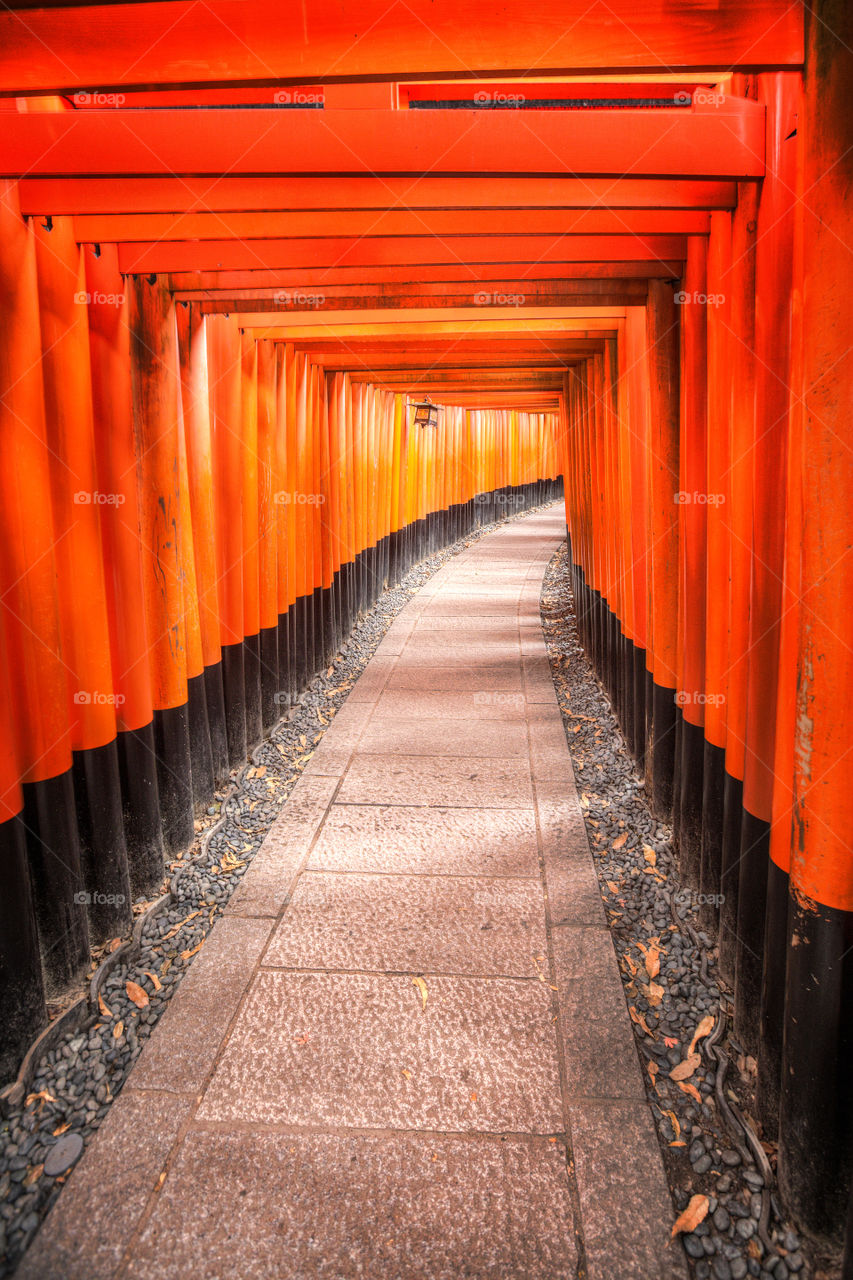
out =
{"type": "Polygon", "coordinates": [[[126,1089],[15,1272],[18,1280],[108,1280],[154,1193],[191,1101],[126,1089]]]}

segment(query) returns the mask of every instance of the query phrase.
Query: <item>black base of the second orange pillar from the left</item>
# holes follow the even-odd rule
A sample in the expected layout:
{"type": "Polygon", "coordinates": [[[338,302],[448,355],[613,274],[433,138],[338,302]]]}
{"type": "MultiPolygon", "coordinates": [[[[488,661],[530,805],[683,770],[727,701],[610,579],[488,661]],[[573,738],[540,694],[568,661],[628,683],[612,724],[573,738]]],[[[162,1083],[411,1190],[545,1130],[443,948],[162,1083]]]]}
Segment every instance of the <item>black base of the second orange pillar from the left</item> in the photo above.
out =
{"type": "Polygon", "coordinates": [[[23,822],[46,993],[61,992],[88,966],[86,886],[79,863],[70,769],[26,782],[23,822]]]}

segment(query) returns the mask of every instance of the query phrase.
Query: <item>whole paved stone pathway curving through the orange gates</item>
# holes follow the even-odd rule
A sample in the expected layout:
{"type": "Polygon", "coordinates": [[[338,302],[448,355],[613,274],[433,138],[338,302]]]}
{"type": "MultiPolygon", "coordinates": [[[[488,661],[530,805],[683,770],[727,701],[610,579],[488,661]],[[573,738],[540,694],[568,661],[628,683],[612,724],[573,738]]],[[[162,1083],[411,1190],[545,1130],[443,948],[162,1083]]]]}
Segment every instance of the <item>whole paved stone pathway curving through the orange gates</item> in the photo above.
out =
{"type": "Polygon", "coordinates": [[[542,628],[555,507],[391,626],[22,1280],[675,1280],[542,628]]]}

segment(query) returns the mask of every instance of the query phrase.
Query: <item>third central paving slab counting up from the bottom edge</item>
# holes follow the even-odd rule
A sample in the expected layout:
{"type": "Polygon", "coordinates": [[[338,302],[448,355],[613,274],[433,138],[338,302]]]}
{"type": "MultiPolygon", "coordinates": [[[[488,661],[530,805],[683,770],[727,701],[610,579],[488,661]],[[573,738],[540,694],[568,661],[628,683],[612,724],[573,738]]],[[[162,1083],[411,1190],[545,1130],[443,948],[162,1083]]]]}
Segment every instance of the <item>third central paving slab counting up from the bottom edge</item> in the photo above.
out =
{"type": "Polygon", "coordinates": [[[311,872],[264,965],[529,978],[544,947],[534,881],[311,872]]]}

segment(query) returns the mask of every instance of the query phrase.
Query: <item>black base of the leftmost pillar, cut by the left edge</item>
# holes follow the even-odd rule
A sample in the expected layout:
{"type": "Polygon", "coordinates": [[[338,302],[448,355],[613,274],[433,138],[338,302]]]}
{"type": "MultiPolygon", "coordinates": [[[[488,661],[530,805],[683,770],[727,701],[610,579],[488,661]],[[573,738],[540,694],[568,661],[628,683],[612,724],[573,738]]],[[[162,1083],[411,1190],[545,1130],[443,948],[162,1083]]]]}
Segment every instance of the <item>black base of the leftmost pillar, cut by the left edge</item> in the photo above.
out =
{"type": "Polygon", "coordinates": [[[0,823],[0,1084],[47,1024],[36,910],[20,817],[0,823]]]}

